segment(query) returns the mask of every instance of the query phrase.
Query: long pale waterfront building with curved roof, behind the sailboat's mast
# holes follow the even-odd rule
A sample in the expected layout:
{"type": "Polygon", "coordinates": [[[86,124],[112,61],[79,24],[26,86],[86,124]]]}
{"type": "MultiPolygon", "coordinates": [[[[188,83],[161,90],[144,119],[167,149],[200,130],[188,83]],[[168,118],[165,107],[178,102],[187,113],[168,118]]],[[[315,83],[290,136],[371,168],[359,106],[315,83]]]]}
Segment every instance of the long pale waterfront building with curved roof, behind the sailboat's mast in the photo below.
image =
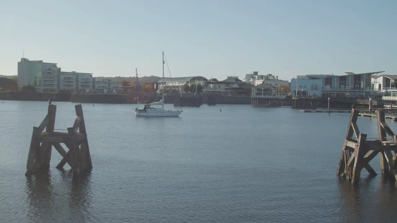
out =
{"type": "MultiPolygon", "coordinates": [[[[183,85],[201,84],[208,81],[205,77],[164,77],[164,88],[179,90],[183,85]]],[[[163,89],[163,79],[157,82],[158,89],[163,89]]]]}

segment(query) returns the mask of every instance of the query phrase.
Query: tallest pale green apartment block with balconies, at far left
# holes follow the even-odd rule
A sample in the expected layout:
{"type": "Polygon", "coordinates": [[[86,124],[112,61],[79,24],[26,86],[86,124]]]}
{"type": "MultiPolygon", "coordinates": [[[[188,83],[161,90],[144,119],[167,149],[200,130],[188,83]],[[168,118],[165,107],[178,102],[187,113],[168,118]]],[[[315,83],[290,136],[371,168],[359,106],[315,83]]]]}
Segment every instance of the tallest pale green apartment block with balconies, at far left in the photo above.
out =
{"type": "Polygon", "coordinates": [[[18,88],[31,85],[38,92],[58,92],[59,71],[56,63],[21,58],[18,62],[18,88]]]}

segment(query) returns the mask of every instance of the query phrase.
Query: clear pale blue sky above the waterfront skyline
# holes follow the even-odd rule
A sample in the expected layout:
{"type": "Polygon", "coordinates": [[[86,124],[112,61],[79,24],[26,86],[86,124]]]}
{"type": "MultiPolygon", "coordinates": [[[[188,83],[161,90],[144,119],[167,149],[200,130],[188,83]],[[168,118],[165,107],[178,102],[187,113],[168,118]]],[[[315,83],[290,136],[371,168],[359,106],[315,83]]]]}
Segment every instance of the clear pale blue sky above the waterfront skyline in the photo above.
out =
{"type": "Polygon", "coordinates": [[[94,76],[161,76],[162,50],[173,77],[397,75],[396,9],[395,0],[0,0],[0,74],[17,74],[24,48],[94,76]]]}

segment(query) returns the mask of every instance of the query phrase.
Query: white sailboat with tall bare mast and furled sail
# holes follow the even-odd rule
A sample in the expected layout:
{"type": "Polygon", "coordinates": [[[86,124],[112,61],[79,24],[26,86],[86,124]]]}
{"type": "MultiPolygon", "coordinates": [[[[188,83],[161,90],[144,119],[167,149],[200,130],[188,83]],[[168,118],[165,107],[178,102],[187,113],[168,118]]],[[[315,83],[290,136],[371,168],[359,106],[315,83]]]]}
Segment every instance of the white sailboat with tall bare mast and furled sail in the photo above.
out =
{"type": "Polygon", "coordinates": [[[146,117],[178,117],[183,111],[179,109],[175,110],[164,110],[164,51],[163,53],[163,89],[162,89],[162,99],[158,102],[153,102],[150,104],[145,104],[143,109],[135,108],[136,116],[146,116],[146,117]],[[154,107],[157,106],[157,107],[154,107]],[[161,106],[161,107],[160,107],[161,106]]]}

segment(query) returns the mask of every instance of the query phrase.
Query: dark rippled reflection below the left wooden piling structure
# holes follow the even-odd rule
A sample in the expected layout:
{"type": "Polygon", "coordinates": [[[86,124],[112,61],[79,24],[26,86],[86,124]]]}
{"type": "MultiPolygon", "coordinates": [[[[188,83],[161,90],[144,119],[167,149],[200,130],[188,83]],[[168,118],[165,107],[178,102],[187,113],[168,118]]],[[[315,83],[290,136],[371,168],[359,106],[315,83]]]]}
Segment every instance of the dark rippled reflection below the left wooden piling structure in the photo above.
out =
{"type": "Polygon", "coordinates": [[[90,222],[90,176],[72,180],[70,171],[60,171],[60,176],[60,188],[54,188],[51,173],[27,177],[28,218],[37,223],[90,222]]]}

